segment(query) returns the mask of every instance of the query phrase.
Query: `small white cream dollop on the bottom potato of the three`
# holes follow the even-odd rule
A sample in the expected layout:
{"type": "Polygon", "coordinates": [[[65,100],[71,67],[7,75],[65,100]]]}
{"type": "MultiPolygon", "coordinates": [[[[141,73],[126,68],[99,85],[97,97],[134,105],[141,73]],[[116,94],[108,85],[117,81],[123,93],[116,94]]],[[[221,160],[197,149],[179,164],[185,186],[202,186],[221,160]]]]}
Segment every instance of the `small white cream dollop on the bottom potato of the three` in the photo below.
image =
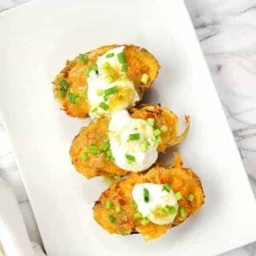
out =
{"type": "Polygon", "coordinates": [[[162,184],[138,183],[132,190],[133,200],[137,203],[137,211],[143,218],[154,224],[171,224],[177,215],[177,199],[172,189],[167,192],[162,184]],[[149,201],[144,200],[144,189],[148,189],[149,201]],[[172,207],[172,211],[170,211],[172,207]]]}

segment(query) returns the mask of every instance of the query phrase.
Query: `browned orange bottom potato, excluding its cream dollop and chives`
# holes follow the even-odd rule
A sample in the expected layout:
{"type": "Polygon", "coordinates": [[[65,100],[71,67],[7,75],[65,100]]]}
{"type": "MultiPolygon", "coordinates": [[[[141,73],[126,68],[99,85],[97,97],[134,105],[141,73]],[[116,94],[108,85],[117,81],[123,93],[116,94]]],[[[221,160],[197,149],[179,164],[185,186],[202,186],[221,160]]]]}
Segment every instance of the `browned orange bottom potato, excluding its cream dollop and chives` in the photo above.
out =
{"type": "Polygon", "coordinates": [[[127,179],[113,183],[102,193],[93,207],[96,222],[111,234],[128,235],[139,232],[146,240],[155,239],[166,233],[166,230],[183,223],[186,218],[201,208],[205,195],[200,178],[191,169],[183,168],[182,164],[180,156],[176,154],[174,166],[163,167],[156,164],[146,174],[131,173],[127,179]],[[169,183],[174,193],[177,191],[182,193],[183,198],[178,201],[178,207],[185,207],[188,212],[187,216],[183,218],[177,213],[174,222],[167,225],[157,225],[151,222],[147,225],[140,224],[141,219],[133,218],[137,209],[132,203],[131,196],[132,189],[137,183],[169,183]],[[188,201],[189,194],[195,195],[193,202],[188,201]],[[113,201],[111,209],[105,207],[108,199],[113,201]],[[117,205],[122,207],[119,213],[115,212],[117,205]],[[109,215],[113,215],[116,219],[114,224],[109,222],[109,215]]]}

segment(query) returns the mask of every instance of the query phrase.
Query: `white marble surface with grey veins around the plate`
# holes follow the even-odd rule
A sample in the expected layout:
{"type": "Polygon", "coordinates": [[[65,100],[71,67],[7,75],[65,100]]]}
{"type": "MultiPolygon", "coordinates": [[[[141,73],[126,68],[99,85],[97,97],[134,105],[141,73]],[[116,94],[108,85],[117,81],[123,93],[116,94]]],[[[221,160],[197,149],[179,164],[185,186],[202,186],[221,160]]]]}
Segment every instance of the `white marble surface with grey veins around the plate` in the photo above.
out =
{"type": "MultiPolygon", "coordinates": [[[[0,12],[29,1],[0,0],[0,12]]],[[[256,195],[256,0],[185,2],[256,195]]],[[[0,176],[15,190],[31,240],[42,245],[1,124],[0,119],[0,176]]],[[[256,256],[256,242],[223,255],[256,256]]]]}

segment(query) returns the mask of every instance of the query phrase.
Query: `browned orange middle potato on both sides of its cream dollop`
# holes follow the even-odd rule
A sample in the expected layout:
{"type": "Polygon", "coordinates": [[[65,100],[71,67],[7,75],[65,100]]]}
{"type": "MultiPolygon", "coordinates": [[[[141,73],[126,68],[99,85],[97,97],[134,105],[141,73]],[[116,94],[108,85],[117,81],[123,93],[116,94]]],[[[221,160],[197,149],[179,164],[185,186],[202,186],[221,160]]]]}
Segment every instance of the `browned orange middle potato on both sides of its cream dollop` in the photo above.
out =
{"type": "MultiPolygon", "coordinates": [[[[157,104],[143,104],[138,108],[131,109],[131,117],[136,119],[153,118],[157,127],[166,125],[168,131],[161,133],[162,143],[157,148],[159,152],[164,152],[167,147],[172,146],[170,141],[177,137],[176,125],[177,116],[167,108],[161,108],[157,104]]],[[[106,154],[90,154],[89,145],[101,147],[103,140],[108,140],[109,117],[96,119],[87,127],[79,131],[79,135],[74,138],[70,148],[70,157],[75,169],[81,172],[85,177],[91,178],[96,176],[125,176],[128,172],[120,169],[113,161],[108,160],[106,154]],[[81,160],[82,153],[88,155],[88,160],[81,160]]]]}

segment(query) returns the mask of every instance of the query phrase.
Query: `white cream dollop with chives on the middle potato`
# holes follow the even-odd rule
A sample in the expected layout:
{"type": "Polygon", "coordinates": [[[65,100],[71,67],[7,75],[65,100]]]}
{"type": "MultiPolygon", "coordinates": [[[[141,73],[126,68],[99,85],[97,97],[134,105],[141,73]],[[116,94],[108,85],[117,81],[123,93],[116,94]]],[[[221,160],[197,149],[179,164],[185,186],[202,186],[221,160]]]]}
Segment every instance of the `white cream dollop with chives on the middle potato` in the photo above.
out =
{"type": "Polygon", "coordinates": [[[157,160],[153,127],[143,119],[132,119],[126,110],[113,113],[108,137],[115,164],[126,171],[142,172],[157,160]],[[130,140],[134,134],[139,138],[130,140]]]}

